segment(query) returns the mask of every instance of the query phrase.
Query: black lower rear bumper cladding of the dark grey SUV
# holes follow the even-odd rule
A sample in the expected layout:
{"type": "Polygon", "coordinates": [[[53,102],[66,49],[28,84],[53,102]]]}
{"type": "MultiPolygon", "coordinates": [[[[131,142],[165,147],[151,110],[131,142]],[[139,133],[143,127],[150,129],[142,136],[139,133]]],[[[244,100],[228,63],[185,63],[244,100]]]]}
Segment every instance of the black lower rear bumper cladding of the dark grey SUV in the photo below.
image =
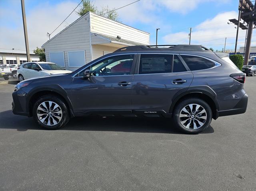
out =
{"type": "Polygon", "coordinates": [[[236,115],[236,114],[242,114],[246,112],[248,103],[248,95],[245,94],[241,100],[234,106],[234,108],[230,110],[223,110],[223,111],[217,111],[218,116],[228,116],[228,115],[236,115]]]}

